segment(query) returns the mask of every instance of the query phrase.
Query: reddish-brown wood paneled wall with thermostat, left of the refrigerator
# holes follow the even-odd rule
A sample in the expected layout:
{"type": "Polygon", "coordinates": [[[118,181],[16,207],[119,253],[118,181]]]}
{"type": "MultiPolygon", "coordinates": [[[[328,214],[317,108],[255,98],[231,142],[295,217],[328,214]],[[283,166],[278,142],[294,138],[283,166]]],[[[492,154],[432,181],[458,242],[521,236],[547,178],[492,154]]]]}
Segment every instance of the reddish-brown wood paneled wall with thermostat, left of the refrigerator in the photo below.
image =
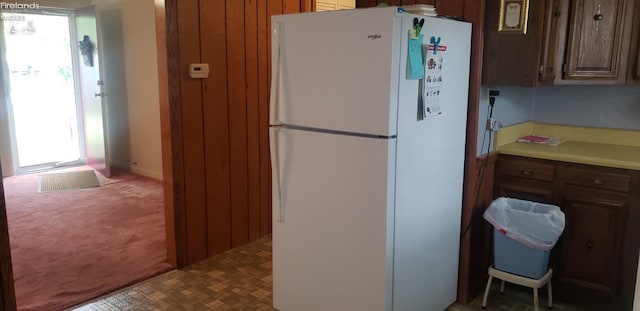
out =
{"type": "Polygon", "coordinates": [[[310,7],[308,0],[166,0],[178,267],[271,232],[270,16],[310,7]],[[190,63],[209,64],[209,77],[190,78],[190,63]]]}

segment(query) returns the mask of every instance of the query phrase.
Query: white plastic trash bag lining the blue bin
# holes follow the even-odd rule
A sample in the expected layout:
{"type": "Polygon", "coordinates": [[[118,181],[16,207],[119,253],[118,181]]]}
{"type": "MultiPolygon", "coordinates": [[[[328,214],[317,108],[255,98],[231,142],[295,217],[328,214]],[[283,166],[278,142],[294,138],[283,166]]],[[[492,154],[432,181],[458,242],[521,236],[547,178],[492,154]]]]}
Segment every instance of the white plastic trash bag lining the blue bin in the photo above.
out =
{"type": "Polygon", "coordinates": [[[550,250],[564,230],[564,213],[550,204],[500,197],[484,219],[508,237],[537,250],[550,250]]]}

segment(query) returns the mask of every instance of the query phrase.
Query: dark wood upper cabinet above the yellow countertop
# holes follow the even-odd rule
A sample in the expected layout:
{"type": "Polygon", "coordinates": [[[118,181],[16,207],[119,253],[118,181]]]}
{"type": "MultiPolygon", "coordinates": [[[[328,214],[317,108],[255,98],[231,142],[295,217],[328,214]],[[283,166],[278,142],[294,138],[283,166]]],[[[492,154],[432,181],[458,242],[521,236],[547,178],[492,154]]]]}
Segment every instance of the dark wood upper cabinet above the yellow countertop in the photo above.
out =
{"type": "Polygon", "coordinates": [[[486,3],[483,84],[624,84],[637,63],[635,0],[529,1],[526,34],[499,32],[500,0],[486,3]]]}

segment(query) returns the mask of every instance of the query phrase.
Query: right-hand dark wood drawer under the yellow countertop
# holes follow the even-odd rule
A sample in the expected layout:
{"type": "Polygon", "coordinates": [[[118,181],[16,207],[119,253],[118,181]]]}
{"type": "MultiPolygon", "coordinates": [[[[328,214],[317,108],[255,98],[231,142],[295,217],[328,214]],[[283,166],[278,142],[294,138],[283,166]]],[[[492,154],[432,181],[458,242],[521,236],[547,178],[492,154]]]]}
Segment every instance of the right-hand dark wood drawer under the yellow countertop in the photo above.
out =
{"type": "Polygon", "coordinates": [[[631,175],[624,172],[567,167],[565,183],[596,189],[629,192],[631,175]]]}

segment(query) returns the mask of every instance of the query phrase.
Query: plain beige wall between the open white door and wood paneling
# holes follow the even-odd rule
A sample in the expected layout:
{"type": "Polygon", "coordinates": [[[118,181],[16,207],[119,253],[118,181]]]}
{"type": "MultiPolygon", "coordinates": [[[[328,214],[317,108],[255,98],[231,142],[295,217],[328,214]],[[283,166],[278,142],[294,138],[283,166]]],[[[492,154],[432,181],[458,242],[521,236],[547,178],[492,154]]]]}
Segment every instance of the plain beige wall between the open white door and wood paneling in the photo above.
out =
{"type": "Polygon", "coordinates": [[[109,115],[111,164],[162,179],[154,7],[153,0],[102,1],[96,4],[96,12],[99,18],[111,21],[117,20],[114,16],[119,15],[123,30],[121,51],[126,108],[117,109],[115,114],[111,111],[109,115]]]}

